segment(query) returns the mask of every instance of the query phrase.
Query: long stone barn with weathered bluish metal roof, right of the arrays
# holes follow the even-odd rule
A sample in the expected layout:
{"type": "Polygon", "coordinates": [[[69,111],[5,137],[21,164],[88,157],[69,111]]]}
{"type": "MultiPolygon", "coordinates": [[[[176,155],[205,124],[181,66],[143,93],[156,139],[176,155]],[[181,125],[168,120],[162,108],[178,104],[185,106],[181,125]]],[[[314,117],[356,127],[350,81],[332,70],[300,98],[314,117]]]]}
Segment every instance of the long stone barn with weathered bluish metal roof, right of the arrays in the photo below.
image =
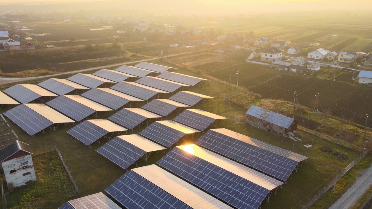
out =
{"type": "Polygon", "coordinates": [[[247,123],[258,126],[271,132],[286,135],[288,132],[296,132],[297,122],[279,113],[275,113],[252,105],[246,112],[247,123]]]}

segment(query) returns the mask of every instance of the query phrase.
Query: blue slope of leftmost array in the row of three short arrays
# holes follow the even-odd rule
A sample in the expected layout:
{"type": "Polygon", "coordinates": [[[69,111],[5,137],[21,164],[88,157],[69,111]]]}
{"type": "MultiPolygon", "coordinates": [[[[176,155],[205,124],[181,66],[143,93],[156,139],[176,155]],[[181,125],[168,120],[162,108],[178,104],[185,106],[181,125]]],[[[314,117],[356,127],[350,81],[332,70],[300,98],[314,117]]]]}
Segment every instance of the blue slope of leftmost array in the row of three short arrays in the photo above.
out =
{"type": "Polygon", "coordinates": [[[123,169],[128,168],[146,154],[144,150],[118,136],[98,148],[97,152],[123,169]]]}

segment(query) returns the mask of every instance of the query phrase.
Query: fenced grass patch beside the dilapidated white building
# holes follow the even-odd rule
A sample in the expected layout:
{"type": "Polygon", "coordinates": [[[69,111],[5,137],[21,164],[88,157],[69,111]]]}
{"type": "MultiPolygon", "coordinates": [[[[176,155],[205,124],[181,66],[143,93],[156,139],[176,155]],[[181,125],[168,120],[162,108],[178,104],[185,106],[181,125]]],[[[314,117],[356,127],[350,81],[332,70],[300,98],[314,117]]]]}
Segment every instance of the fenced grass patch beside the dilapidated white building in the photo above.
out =
{"type": "Polygon", "coordinates": [[[36,155],[32,160],[39,181],[10,192],[6,196],[8,209],[40,208],[76,194],[56,151],[36,155]]]}

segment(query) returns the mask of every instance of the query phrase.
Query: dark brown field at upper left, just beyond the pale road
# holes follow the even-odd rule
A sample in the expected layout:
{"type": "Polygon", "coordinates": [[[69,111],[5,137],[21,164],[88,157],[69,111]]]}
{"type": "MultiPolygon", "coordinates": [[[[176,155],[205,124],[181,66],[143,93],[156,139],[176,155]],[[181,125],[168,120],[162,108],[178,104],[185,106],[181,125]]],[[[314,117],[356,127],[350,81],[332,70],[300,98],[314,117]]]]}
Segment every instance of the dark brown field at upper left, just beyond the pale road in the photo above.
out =
{"type": "Polygon", "coordinates": [[[130,59],[124,55],[125,52],[122,50],[103,51],[69,57],[47,58],[43,59],[42,62],[40,60],[17,60],[1,63],[0,61],[0,66],[3,73],[15,73],[38,68],[64,72],[130,61],[130,59]]]}

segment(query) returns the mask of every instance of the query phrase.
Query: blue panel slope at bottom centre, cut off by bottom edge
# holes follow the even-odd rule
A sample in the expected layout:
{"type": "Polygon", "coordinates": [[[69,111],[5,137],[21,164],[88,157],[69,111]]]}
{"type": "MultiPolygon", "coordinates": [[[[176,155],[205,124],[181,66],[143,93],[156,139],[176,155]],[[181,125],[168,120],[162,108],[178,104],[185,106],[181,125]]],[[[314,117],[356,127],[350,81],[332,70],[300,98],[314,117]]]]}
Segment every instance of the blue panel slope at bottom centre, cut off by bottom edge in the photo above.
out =
{"type": "Polygon", "coordinates": [[[128,209],[191,209],[132,170],[111,184],[105,192],[128,209]]]}

